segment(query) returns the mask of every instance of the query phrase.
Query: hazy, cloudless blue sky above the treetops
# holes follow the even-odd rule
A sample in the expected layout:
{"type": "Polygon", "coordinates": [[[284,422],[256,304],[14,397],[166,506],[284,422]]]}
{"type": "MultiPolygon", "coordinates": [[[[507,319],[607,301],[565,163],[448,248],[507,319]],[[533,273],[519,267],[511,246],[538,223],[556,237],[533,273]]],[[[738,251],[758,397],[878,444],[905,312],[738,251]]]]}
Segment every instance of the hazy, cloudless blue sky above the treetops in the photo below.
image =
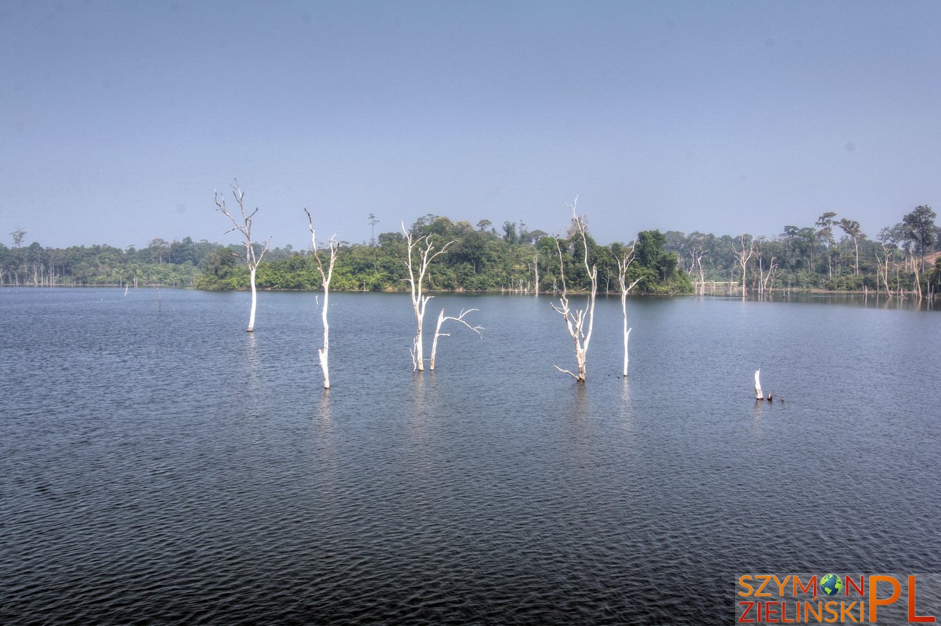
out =
{"type": "Polygon", "coordinates": [[[941,2],[0,0],[0,241],[874,236],[941,208],[941,2]]]}

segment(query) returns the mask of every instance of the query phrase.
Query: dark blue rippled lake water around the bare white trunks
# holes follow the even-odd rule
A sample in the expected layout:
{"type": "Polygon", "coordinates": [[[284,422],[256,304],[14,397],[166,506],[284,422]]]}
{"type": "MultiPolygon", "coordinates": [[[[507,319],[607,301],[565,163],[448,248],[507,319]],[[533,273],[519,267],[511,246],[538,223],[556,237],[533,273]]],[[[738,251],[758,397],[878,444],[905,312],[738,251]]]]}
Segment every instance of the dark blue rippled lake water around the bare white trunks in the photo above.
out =
{"type": "MultiPolygon", "coordinates": [[[[731,623],[941,571],[941,314],[874,297],[3,289],[0,623],[731,623]],[[773,404],[754,399],[754,371],[773,404]]],[[[941,613],[941,611],[939,611],[941,613]]]]}

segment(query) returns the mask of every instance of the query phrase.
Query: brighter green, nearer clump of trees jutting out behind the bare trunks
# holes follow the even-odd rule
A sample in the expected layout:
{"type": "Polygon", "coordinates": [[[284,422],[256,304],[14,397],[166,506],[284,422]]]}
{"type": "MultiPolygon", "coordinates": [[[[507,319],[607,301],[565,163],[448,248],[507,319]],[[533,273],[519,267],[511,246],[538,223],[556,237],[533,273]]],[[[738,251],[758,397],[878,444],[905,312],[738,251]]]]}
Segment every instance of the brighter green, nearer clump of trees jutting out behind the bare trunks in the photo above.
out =
{"type": "MultiPolygon", "coordinates": [[[[552,292],[561,288],[556,237],[542,231],[530,232],[525,225],[505,222],[501,234],[487,220],[481,220],[474,228],[467,221],[454,222],[448,217],[428,214],[416,220],[408,232],[415,237],[431,235],[439,246],[453,242],[429,269],[426,281],[432,290],[533,293],[536,289],[552,292]]],[[[577,261],[573,257],[577,253],[575,234],[569,232],[558,237],[566,264],[577,261]]],[[[333,273],[334,289],[406,290],[405,233],[381,233],[368,244],[340,243],[333,273]]],[[[667,251],[665,245],[666,238],[658,231],[640,233],[638,260],[631,267],[636,278],[643,278],[634,289],[636,293],[692,293],[693,285],[679,265],[678,254],[667,251]]],[[[598,265],[602,292],[616,293],[616,259],[625,248],[620,243],[600,246],[589,237],[589,254],[592,263],[598,265]]],[[[247,271],[226,249],[211,252],[200,269],[196,280],[200,289],[239,289],[247,284],[247,271]]],[[[258,269],[258,284],[268,289],[314,289],[319,281],[310,252],[279,255],[258,269]]],[[[589,282],[578,271],[566,276],[566,281],[569,289],[576,290],[586,288],[589,282]]]]}

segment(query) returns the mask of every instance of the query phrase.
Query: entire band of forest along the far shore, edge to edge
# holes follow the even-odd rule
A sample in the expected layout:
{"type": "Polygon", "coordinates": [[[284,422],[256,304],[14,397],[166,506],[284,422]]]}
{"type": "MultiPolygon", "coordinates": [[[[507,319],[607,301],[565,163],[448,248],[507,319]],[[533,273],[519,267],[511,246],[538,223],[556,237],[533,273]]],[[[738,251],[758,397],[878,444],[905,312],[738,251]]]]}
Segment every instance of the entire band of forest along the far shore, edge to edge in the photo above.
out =
{"type": "MultiPolygon", "coordinates": [[[[260,217],[263,218],[263,215],[260,217]]],[[[591,236],[591,265],[598,266],[598,292],[617,293],[617,260],[633,253],[628,271],[637,281],[634,294],[761,294],[779,290],[941,291],[941,233],[935,214],[918,206],[894,226],[874,236],[858,222],[836,213],[823,214],[813,226],[784,226],[774,236],[714,235],[645,231],[631,242],[600,245],[591,236]]],[[[503,293],[555,292],[560,261],[570,290],[585,289],[580,271],[575,222],[567,233],[529,230],[505,221],[498,230],[484,219],[468,221],[428,214],[408,229],[431,235],[447,249],[430,266],[426,288],[435,291],[503,293]],[[449,243],[450,242],[450,243],[449,243]],[[561,256],[561,259],[560,259],[561,256]]],[[[44,248],[24,246],[23,229],[13,246],[0,244],[0,284],[6,286],[167,286],[204,290],[246,289],[245,246],[206,240],[167,242],[153,239],[147,248],[107,245],[44,248]]],[[[579,241],[581,241],[579,239],[579,241]]],[[[277,243],[277,242],[275,242],[277,243]]],[[[362,243],[341,241],[331,288],[337,291],[406,291],[407,255],[403,231],[380,233],[362,243]]],[[[320,277],[311,250],[291,246],[267,250],[258,265],[260,289],[318,289],[320,277]]]]}

